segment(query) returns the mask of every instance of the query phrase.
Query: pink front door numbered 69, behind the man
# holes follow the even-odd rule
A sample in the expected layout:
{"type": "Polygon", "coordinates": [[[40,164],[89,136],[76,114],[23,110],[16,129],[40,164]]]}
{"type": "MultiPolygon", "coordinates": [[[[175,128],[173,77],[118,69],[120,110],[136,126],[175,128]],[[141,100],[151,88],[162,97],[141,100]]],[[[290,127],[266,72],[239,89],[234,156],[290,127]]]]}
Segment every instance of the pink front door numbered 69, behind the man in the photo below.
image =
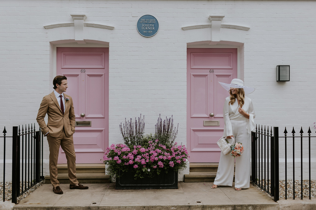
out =
{"type": "MultiPolygon", "coordinates": [[[[101,163],[108,147],[109,49],[57,48],[57,75],[74,102],[76,163],[101,163]]],[[[60,148],[58,163],[67,163],[60,148]]]]}

